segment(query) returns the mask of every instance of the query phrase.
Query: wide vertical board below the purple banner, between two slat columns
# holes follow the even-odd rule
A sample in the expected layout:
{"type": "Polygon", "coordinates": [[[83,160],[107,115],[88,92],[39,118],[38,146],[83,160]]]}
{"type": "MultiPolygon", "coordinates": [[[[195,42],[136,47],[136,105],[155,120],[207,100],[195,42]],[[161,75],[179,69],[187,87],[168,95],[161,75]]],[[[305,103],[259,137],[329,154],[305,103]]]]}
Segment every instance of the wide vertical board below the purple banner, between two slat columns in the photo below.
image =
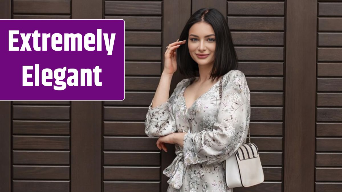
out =
{"type": "Polygon", "coordinates": [[[71,101],[71,191],[102,191],[102,101],[71,101]]]}

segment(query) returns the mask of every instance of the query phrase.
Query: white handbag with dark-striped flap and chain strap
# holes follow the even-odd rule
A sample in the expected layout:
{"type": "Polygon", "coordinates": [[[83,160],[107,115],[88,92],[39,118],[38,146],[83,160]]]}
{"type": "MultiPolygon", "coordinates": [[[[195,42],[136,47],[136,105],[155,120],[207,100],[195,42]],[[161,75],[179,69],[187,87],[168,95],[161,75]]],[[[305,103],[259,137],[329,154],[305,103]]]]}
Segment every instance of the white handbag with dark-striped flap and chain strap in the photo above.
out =
{"type": "MultiPolygon", "coordinates": [[[[220,80],[220,98],[222,97],[222,78],[220,80]]],[[[240,148],[228,159],[224,160],[225,180],[228,188],[250,187],[264,181],[258,147],[251,143],[248,128],[249,143],[240,148]]]]}

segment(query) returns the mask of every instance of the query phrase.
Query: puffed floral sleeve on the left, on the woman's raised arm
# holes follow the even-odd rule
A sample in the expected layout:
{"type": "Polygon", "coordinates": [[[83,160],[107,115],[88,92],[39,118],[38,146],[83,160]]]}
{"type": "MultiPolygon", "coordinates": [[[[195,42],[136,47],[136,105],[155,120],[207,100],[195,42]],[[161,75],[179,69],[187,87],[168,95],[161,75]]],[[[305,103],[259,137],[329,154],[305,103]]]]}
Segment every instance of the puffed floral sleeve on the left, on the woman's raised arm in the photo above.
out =
{"type": "Polygon", "coordinates": [[[145,119],[145,134],[148,137],[160,137],[176,132],[176,120],[172,108],[175,96],[184,82],[185,79],[179,82],[170,98],[159,106],[152,108],[152,99],[145,119]]]}

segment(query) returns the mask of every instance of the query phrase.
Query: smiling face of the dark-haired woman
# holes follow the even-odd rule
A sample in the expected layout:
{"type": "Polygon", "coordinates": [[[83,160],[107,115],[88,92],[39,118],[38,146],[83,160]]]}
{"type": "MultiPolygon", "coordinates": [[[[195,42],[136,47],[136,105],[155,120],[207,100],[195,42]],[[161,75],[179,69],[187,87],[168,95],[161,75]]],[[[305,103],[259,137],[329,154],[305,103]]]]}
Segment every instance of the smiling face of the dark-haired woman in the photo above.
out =
{"type": "Polygon", "coordinates": [[[198,65],[214,64],[216,42],[214,29],[210,24],[198,22],[191,26],[187,42],[190,56],[198,65]]]}

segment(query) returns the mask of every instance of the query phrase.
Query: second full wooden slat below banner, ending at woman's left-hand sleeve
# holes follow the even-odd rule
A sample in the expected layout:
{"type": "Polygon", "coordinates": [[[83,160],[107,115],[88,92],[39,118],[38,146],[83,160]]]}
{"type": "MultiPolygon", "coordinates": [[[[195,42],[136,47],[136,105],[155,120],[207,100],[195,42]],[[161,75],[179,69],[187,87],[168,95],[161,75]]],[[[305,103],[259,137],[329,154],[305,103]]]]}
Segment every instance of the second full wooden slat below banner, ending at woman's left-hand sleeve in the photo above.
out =
{"type": "Polygon", "coordinates": [[[104,122],[104,135],[146,136],[144,122],[104,122]]]}

